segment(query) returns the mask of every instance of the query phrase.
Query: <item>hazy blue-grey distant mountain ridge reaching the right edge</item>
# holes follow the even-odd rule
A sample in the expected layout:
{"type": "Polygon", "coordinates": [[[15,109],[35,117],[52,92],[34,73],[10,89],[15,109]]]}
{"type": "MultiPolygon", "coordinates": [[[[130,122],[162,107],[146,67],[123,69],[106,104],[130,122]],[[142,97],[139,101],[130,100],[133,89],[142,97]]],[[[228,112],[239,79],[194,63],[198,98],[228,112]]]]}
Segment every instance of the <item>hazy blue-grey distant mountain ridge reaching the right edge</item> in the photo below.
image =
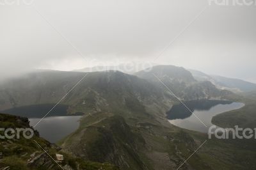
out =
{"type": "Polygon", "coordinates": [[[252,82],[222,77],[220,75],[207,75],[196,70],[189,71],[192,73],[193,77],[195,77],[196,80],[210,81],[216,87],[221,89],[227,89],[234,92],[248,92],[256,90],[256,84],[252,82]]]}

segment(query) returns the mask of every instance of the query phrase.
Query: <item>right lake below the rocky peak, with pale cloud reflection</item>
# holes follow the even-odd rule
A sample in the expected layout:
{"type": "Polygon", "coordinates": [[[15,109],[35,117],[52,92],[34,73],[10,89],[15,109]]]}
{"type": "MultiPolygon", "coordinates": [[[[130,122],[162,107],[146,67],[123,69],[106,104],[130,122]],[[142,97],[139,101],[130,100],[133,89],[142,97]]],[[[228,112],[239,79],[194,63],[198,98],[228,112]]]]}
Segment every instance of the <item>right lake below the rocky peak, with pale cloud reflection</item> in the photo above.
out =
{"type": "MultiPolygon", "coordinates": [[[[244,106],[242,103],[220,100],[195,100],[184,103],[208,128],[212,117],[222,112],[232,111],[244,106]]],[[[173,105],[170,111],[166,112],[167,118],[173,125],[207,133],[206,128],[183,104],[173,105]]]]}

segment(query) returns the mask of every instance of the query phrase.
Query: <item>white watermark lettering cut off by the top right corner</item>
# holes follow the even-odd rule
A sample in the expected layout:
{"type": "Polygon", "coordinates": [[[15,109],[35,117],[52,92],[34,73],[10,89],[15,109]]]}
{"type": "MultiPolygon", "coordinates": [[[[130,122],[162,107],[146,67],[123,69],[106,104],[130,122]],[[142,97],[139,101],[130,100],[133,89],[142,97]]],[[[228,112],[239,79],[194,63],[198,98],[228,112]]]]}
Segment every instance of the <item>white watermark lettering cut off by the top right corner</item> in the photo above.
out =
{"type": "Polygon", "coordinates": [[[256,6],[255,0],[208,0],[209,5],[219,6],[256,6]]]}

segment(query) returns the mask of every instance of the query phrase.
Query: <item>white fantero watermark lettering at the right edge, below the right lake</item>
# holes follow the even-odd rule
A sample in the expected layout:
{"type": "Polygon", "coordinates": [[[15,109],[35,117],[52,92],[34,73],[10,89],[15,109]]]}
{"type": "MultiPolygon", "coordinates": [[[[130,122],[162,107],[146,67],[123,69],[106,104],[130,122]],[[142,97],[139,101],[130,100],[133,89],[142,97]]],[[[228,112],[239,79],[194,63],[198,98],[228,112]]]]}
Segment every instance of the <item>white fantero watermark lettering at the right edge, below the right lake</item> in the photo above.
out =
{"type": "Polygon", "coordinates": [[[256,128],[220,128],[212,125],[208,130],[209,139],[212,135],[217,139],[256,139],[256,128]]]}

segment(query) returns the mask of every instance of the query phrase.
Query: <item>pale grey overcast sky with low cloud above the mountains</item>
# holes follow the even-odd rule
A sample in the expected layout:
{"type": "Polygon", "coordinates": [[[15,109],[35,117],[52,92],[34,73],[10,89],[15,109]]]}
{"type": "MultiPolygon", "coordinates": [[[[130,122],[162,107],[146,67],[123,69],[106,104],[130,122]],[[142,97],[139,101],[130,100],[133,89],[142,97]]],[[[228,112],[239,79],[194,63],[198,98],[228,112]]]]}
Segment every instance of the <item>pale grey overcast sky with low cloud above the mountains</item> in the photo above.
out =
{"type": "Polygon", "coordinates": [[[4,76],[31,68],[73,70],[148,61],[256,82],[256,5],[209,5],[206,0],[0,2],[4,76]]]}

